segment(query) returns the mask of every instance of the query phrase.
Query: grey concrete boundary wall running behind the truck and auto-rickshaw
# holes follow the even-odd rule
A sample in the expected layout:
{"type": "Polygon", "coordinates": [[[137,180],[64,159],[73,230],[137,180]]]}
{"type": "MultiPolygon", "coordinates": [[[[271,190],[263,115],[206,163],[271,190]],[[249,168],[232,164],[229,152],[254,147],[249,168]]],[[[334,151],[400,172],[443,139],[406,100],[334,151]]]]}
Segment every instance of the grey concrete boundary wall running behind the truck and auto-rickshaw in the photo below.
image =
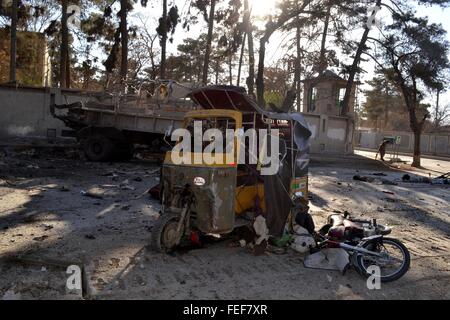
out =
{"type": "MultiPolygon", "coordinates": [[[[89,100],[89,94],[77,90],[0,86],[0,138],[46,138],[49,132],[61,137],[70,130],[52,117],[50,100],[57,104],[89,100]]],[[[91,96],[93,93],[91,93],[91,96]]],[[[303,114],[311,127],[312,153],[353,153],[353,121],[338,116],[303,114]]]]}

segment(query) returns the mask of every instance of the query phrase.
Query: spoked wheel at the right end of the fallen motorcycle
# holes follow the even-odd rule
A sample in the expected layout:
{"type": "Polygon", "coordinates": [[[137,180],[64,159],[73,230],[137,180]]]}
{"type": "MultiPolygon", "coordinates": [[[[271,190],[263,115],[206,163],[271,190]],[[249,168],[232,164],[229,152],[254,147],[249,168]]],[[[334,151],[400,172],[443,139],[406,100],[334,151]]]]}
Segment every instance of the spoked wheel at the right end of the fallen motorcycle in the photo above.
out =
{"type": "Polygon", "coordinates": [[[408,249],[397,239],[382,238],[367,241],[364,249],[382,253],[384,256],[374,257],[367,254],[358,254],[356,262],[359,270],[365,277],[373,274],[368,271],[371,266],[380,268],[380,281],[391,282],[400,279],[409,269],[411,257],[408,249]],[[396,262],[397,266],[389,269],[396,262]]]}

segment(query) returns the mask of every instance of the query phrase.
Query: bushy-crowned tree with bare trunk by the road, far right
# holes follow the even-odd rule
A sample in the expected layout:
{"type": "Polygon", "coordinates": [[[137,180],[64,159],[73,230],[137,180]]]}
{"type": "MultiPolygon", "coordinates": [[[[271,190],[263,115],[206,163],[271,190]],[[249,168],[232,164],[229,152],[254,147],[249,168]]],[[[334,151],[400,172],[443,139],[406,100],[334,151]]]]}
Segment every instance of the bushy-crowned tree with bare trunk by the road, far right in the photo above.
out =
{"type": "Polygon", "coordinates": [[[376,61],[390,81],[401,90],[409,112],[409,123],[414,133],[412,166],[420,167],[420,140],[425,121],[430,116],[421,103],[425,90],[442,88],[448,76],[449,43],[441,25],[414,12],[394,12],[381,39],[370,38],[382,51],[376,61]]]}

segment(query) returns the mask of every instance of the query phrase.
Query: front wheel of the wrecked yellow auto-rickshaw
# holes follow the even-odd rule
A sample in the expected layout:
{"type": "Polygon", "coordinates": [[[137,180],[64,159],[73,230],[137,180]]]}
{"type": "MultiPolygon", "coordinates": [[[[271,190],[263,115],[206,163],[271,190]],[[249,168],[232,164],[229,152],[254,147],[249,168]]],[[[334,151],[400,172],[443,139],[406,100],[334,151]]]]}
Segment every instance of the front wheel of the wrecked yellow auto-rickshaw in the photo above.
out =
{"type": "MultiPolygon", "coordinates": [[[[179,245],[181,238],[177,232],[179,221],[180,215],[175,213],[165,213],[156,220],[150,242],[152,250],[169,253],[179,245]]],[[[184,228],[181,232],[184,232],[184,228]]]]}

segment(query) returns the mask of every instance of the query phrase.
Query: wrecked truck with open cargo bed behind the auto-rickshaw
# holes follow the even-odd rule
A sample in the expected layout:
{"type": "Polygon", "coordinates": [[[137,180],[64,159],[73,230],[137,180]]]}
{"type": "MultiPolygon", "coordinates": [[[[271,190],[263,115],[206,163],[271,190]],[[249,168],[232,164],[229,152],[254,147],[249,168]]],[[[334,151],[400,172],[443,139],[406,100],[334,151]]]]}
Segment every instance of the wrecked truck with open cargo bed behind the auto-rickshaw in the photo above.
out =
{"type": "Polygon", "coordinates": [[[154,90],[135,93],[103,93],[87,102],[57,105],[51,114],[73,130],[90,161],[128,160],[136,146],[164,154],[170,149],[165,139],[180,128],[186,112],[197,105],[189,94],[191,84],[162,81],[154,90]]]}

